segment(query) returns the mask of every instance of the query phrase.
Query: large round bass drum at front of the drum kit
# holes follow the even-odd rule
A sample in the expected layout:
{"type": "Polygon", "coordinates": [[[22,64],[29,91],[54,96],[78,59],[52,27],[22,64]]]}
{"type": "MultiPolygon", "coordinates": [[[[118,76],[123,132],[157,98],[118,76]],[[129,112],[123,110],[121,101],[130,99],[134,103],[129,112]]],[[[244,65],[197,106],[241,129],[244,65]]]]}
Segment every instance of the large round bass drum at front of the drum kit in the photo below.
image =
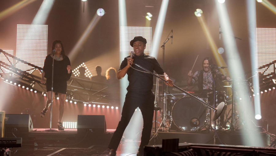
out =
{"type": "Polygon", "coordinates": [[[172,108],[172,120],[180,130],[191,132],[204,126],[209,109],[191,97],[178,100],[172,108]]]}

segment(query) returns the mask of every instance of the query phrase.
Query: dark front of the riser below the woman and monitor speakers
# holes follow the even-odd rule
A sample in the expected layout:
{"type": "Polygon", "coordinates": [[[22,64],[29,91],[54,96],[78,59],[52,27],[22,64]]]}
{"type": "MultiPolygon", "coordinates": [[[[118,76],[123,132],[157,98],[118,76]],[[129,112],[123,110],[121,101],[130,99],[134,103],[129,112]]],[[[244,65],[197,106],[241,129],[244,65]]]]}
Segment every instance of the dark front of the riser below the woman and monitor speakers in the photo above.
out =
{"type": "MultiPolygon", "coordinates": [[[[13,134],[16,137],[22,138],[23,144],[34,144],[34,145],[62,145],[62,146],[82,146],[84,144],[89,145],[101,145],[108,146],[110,139],[115,130],[108,129],[106,133],[77,133],[77,129],[64,129],[56,132],[44,131],[42,128],[34,128],[32,132],[16,132],[13,134]]],[[[11,132],[6,132],[7,137],[14,137],[11,132]]]]}

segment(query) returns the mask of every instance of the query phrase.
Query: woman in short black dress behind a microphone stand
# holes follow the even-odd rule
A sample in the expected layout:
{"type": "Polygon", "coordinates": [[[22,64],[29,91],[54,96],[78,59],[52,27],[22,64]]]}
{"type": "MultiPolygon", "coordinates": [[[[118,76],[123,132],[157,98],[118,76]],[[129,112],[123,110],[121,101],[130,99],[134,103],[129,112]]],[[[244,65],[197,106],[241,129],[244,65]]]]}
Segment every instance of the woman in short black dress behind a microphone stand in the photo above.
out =
{"type": "Polygon", "coordinates": [[[48,108],[51,104],[51,87],[52,87],[52,60],[54,57],[54,78],[53,78],[53,99],[55,94],[59,95],[59,121],[57,123],[59,130],[64,130],[62,125],[62,117],[65,107],[65,98],[67,90],[67,82],[71,75],[71,63],[67,56],[65,56],[63,43],[59,40],[56,40],[52,43],[52,51],[56,50],[55,54],[49,54],[44,62],[43,73],[41,78],[41,83],[45,84],[44,77],[46,80],[46,89],[47,89],[47,100],[46,106],[41,111],[40,116],[44,117],[48,108]]]}

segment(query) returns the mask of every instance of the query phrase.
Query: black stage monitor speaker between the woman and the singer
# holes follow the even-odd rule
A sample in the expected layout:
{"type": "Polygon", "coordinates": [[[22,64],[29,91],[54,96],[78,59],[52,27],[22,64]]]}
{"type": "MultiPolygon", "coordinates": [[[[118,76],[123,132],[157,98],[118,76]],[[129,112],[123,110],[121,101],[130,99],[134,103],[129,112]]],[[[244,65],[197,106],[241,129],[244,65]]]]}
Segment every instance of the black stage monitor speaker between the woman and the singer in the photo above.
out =
{"type": "Polygon", "coordinates": [[[106,133],[104,115],[78,115],[78,133],[106,133]]]}

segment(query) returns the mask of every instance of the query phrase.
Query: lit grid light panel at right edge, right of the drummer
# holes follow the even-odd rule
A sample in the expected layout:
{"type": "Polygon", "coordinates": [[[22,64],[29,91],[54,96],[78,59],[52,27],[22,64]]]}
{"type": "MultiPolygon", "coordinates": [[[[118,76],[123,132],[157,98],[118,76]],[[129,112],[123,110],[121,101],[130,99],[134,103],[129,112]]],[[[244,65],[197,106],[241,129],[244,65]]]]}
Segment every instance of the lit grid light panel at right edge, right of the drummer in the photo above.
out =
{"type": "MultiPolygon", "coordinates": [[[[256,67],[266,65],[276,59],[276,28],[256,28],[256,67]]],[[[266,68],[259,69],[264,72],[266,68]]],[[[264,75],[274,72],[271,65],[264,75]]]]}

